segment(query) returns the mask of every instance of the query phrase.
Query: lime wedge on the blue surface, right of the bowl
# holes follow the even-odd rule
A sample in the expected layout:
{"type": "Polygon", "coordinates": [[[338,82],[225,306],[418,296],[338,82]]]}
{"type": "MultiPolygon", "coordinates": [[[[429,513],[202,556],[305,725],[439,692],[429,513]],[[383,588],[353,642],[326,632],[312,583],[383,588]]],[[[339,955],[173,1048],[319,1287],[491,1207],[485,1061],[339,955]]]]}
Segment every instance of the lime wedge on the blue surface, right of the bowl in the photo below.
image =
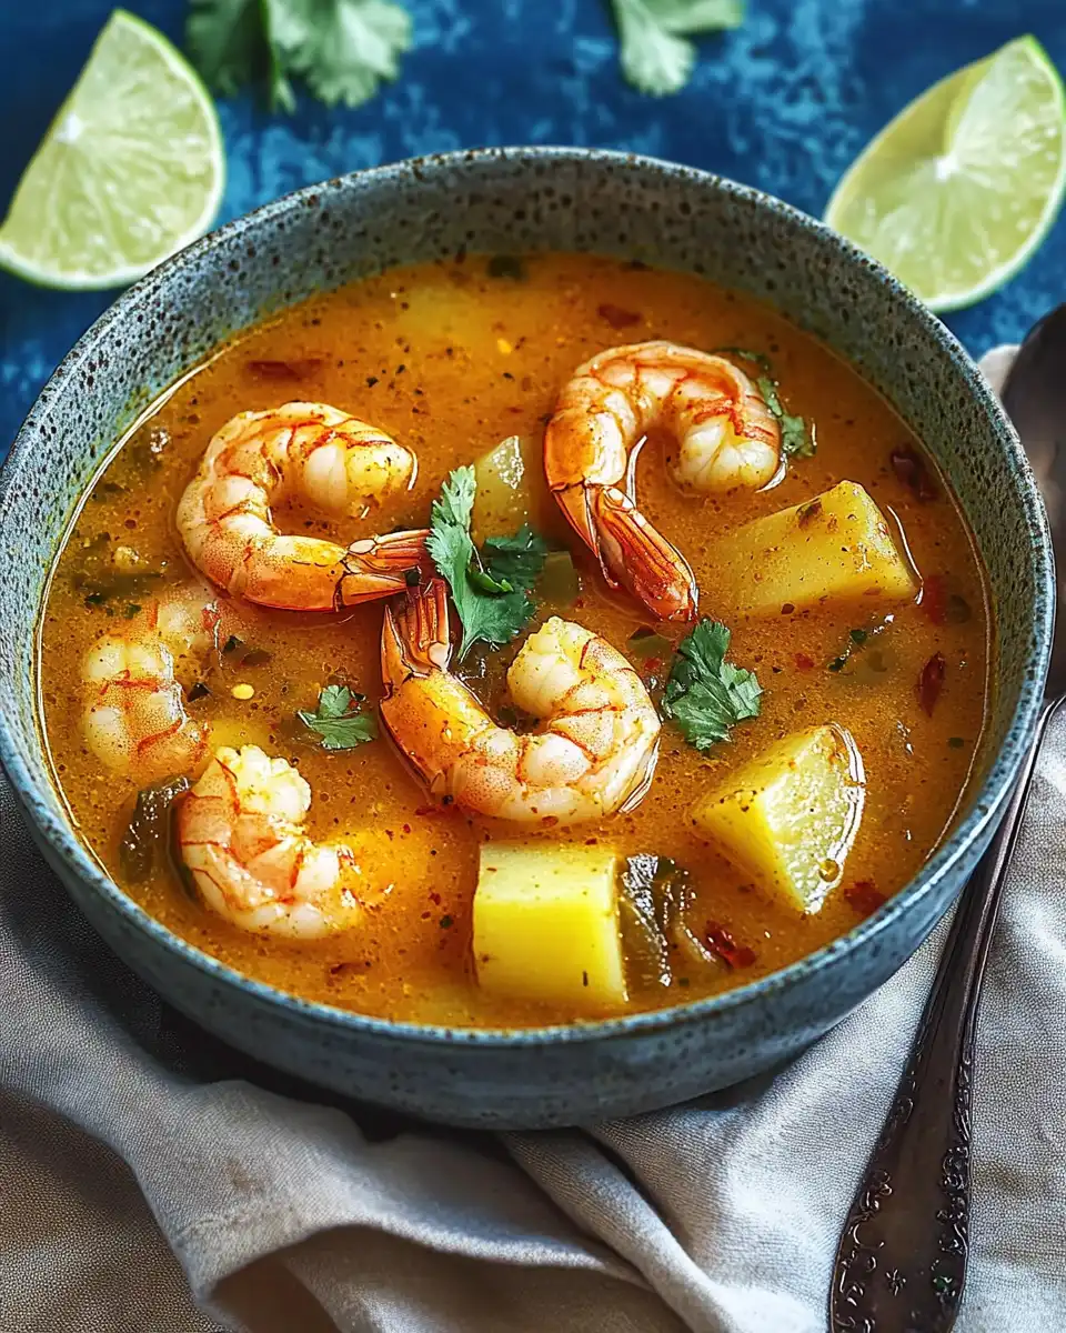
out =
{"type": "Polygon", "coordinates": [[[1026,263],[1066,189],[1066,92],[1035,37],[949,75],[851,164],[825,220],[934,311],[1026,263]]]}

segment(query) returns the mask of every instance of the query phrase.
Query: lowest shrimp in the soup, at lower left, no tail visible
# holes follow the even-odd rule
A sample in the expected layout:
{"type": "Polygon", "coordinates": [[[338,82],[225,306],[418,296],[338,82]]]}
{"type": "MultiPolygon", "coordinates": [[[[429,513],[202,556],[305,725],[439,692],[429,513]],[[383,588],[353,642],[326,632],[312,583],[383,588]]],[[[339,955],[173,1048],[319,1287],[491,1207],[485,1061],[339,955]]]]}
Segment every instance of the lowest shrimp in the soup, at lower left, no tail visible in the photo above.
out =
{"type": "Polygon", "coordinates": [[[364,920],[345,844],[302,828],[310,786],[257,745],[220,746],[177,809],[181,858],[207,905],[241,930],[312,940],[364,920]]]}

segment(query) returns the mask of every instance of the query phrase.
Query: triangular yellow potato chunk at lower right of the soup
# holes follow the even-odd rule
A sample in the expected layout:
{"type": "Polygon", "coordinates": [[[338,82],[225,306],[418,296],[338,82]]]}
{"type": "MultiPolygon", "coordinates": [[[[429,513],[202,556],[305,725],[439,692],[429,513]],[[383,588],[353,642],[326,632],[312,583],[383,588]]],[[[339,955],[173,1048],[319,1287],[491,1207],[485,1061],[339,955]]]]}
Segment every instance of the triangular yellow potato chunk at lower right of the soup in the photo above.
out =
{"type": "Polygon", "coordinates": [[[810,913],[841,881],[865,798],[851,733],[827,725],[786,736],[689,813],[768,897],[810,913]]]}

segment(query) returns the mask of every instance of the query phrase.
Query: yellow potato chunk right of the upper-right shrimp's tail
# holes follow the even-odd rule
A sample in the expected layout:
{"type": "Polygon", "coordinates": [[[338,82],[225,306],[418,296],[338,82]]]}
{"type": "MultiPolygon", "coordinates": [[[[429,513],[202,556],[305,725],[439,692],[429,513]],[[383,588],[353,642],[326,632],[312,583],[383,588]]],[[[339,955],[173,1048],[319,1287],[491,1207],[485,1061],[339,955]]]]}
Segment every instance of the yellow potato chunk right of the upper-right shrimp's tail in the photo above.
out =
{"type": "Polygon", "coordinates": [[[885,516],[854,481],[745,524],[712,551],[720,612],[778,616],[823,601],[907,601],[917,584],[885,516]]]}

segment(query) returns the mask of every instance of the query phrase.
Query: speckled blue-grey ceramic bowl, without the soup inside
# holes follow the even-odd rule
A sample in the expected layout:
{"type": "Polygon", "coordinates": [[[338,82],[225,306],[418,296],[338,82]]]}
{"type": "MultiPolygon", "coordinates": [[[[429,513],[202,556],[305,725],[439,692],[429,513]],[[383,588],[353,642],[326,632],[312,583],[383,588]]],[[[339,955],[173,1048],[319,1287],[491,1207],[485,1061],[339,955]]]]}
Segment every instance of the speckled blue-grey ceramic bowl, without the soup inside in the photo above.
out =
{"type": "Polygon", "coordinates": [[[31,829],[111,946],[236,1046],[353,1097],[460,1125],[584,1124],[721,1088],[801,1050],[885,981],[943,914],[991,832],[1037,716],[1053,571],[1017,439],[951,335],[877,264],[802,213],[666,163],[576,149],[421,159],[301,191],[151,273],[81,339],[0,477],[0,758],[31,829]],[[389,1024],[249,981],[169,934],[79,844],[37,725],[35,635],[77,497],[147,401],[223,339],[393,264],[596,251],[769,299],[857,365],[958,493],[989,571],[998,690],[987,777],[911,884],[850,934],[729,994],[534,1032],[389,1024]]]}

